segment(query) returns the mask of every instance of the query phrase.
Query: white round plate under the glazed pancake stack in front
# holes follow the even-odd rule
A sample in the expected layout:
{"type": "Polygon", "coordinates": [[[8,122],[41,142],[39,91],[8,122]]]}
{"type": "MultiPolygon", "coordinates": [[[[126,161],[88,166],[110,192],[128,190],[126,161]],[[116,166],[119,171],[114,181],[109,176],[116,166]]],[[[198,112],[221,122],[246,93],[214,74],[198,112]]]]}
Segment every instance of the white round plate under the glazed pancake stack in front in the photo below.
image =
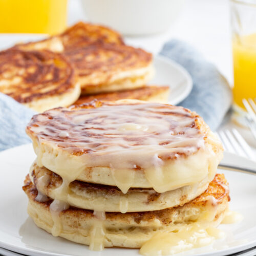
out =
{"type": "MultiPolygon", "coordinates": [[[[90,251],[88,246],[53,237],[38,228],[27,214],[27,197],[23,181],[35,154],[32,144],[11,148],[0,153],[1,211],[0,247],[27,255],[139,255],[137,249],[106,248],[90,251]]],[[[214,244],[186,251],[179,255],[221,256],[256,246],[256,176],[219,170],[230,184],[230,209],[240,212],[244,220],[237,224],[221,225],[227,237],[214,244]]],[[[178,255],[178,254],[177,254],[178,255]]]]}

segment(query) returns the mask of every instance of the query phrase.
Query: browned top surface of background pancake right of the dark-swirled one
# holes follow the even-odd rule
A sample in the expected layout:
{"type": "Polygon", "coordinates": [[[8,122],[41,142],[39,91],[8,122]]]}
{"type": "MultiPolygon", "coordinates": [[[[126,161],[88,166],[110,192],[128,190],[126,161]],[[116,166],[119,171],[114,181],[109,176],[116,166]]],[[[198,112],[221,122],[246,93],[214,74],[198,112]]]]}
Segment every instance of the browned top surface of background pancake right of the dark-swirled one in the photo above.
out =
{"type": "Polygon", "coordinates": [[[78,76],[98,75],[102,83],[121,71],[145,68],[152,61],[152,54],[140,48],[122,45],[70,47],[64,54],[74,64],[78,76]]]}

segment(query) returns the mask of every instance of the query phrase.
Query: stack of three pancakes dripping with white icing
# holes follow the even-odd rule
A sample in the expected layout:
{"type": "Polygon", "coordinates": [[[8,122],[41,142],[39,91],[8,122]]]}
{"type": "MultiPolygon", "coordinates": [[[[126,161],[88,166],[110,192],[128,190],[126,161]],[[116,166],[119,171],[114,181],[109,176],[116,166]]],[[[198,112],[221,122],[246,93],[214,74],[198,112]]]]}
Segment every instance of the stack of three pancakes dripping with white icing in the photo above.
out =
{"type": "Polygon", "coordinates": [[[145,255],[172,236],[179,252],[212,241],[228,209],[222,145],[182,107],[93,101],[35,115],[27,134],[37,155],[23,187],[28,213],[53,236],[145,255]]]}

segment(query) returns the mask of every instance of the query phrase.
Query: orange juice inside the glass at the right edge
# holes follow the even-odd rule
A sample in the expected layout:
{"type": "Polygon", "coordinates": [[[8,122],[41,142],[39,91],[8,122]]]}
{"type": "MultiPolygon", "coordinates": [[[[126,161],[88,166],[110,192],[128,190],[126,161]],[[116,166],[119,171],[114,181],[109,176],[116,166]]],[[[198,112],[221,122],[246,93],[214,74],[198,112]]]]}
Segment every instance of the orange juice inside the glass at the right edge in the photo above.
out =
{"type": "Polygon", "coordinates": [[[256,98],[256,33],[233,40],[234,102],[256,98]]]}

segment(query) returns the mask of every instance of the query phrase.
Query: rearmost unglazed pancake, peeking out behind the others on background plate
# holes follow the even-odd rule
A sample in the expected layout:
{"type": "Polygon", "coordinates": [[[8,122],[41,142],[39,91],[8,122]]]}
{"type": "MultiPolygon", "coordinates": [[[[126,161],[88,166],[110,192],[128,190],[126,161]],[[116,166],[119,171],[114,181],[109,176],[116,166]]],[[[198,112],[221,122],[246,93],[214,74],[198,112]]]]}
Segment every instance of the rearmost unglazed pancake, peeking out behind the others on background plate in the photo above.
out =
{"type": "Polygon", "coordinates": [[[121,35],[110,28],[78,22],[59,35],[36,42],[28,42],[27,44],[18,44],[15,48],[63,52],[91,44],[124,45],[124,42],[121,35]]]}

